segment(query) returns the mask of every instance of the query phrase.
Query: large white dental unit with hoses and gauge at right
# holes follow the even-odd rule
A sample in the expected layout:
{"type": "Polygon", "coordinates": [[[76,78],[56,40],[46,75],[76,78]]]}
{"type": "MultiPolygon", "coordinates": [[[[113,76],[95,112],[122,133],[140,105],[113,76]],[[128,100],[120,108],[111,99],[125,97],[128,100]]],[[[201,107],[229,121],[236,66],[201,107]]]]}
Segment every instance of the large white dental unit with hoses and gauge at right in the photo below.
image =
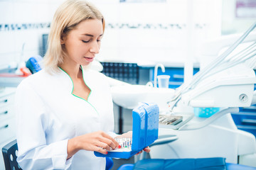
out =
{"type": "Polygon", "coordinates": [[[225,157],[229,163],[256,167],[255,136],[238,130],[230,115],[255,103],[256,34],[251,33],[255,27],[256,23],[175,90],[164,115],[183,120],[176,125],[159,124],[159,135],[176,135],[178,140],[153,147],[151,158],[225,157]]]}

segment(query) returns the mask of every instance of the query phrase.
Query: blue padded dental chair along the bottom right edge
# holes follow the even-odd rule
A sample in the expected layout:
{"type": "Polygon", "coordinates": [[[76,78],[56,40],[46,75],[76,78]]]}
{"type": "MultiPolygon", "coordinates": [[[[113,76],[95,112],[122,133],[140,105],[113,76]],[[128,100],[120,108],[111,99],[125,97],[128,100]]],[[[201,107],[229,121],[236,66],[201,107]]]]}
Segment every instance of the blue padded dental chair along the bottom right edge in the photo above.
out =
{"type": "MultiPolygon", "coordinates": [[[[177,140],[176,135],[172,137],[162,136],[149,147],[165,145],[177,140]]],[[[135,156],[135,158],[139,155],[135,156]]],[[[196,169],[227,169],[227,170],[256,170],[255,167],[240,164],[226,163],[223,157],[197,158],[197,159],[151,159],[150,154],[142,152],[142,159],[134,164],[123,164],[117,170],[196,170],[196,169]]]]}

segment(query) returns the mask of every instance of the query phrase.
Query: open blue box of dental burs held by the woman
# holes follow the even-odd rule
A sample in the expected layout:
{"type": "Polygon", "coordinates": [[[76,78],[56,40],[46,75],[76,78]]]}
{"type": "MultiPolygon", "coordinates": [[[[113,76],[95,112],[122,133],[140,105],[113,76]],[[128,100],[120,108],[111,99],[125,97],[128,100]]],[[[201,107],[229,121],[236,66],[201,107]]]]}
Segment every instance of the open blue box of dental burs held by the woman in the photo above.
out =
{"type": "Polygon", "coordinates": [[[107,154],[94,152],[95,156],[128,159],[158,139],[159,107],[155,103],[143,103],[134,108],[132,118],[132,138],[116,137],[120,148],[111,149],[107,154]]]}

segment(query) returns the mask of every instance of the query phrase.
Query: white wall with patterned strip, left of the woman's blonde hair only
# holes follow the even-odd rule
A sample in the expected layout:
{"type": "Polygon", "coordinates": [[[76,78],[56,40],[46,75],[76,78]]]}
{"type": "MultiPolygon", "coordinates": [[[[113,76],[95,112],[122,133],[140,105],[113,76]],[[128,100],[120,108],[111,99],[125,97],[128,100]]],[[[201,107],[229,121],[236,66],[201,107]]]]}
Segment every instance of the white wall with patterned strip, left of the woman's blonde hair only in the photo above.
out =
{"type": "Polygon", "coordinates": [[[40,54],[42,34],[48,33],[59,4],[43,0],[0,1],[0,69],[40,54]]]}

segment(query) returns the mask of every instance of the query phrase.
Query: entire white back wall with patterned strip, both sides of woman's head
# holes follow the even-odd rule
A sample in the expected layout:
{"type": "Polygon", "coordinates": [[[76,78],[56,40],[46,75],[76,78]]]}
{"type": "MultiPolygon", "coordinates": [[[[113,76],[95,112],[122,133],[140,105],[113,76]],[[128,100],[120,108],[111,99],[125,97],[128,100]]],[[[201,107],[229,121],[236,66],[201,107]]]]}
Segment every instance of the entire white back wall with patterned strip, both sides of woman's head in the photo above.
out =
{"type": "MultiPolygon", "coordinates": [[[[63,1],[0,0],[0,69],[16,68],[29,57],[45,54],[43,35],[63,1]]],[[[243,33],[256,16],[255,6],[237,6],[248,0],[89,1],[106,21],[97,60],[110,62],[197,63],[203,42],[243,33]]]]}

